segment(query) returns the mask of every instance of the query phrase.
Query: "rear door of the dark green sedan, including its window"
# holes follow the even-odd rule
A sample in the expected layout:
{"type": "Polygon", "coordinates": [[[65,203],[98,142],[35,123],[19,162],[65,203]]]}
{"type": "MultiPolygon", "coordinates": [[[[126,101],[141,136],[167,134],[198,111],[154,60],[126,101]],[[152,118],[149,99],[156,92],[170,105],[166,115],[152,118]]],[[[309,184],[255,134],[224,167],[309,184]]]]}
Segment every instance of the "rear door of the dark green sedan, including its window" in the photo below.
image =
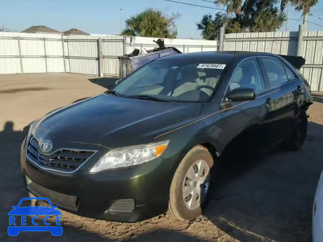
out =
{"type": "Polygon", "coordinates": [[[271,123],[274,141],[279,142],[292,134],[303,87],[294,72],[278,58],[260,57],[259,61],[268,89],[267,121],[271,123]]]}

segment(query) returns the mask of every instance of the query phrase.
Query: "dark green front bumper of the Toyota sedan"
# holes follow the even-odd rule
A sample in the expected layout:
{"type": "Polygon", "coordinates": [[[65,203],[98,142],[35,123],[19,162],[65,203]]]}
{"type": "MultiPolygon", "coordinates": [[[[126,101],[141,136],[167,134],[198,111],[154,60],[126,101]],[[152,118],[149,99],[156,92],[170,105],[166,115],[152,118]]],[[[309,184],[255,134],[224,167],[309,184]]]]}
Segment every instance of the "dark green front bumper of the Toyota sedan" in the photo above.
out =
{"type": "Polygon", "coordinates": [[[27,189],[49,198],[60,208],[87,217],[126,222],[167,211],[177,157],[159,157],[145,164],[95,174],[82,167],[68,174],[37,167],[26,159],[24,147],[23,142],[22,171],[31,180],[27,189]]]}

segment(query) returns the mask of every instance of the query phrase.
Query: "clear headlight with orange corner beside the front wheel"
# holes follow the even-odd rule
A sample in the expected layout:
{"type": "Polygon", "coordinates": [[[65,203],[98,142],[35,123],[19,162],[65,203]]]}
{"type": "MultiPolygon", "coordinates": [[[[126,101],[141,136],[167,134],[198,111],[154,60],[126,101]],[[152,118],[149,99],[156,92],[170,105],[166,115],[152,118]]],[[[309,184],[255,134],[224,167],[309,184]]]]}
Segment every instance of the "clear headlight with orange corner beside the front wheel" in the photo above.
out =
{"type": "Polygon", "coordinates": [[[139,165],[163,154],[169,141],[113,149],[104,154],[90,169],[90,173],[102,170],[139,165]]]}

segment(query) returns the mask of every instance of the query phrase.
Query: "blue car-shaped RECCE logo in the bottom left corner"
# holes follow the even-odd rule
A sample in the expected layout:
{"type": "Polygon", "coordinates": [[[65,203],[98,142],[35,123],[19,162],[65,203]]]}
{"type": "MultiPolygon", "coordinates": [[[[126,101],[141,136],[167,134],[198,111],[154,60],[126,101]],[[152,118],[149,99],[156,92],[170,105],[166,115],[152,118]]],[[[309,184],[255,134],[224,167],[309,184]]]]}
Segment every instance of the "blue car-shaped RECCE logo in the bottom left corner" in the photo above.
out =
{"type": "Polygon", "coordinates": [[[54,236],[60,236],[63,234],[63,227],[61,226],[61,215],[62,213],[58,210],[58,207],[52,206],[48,198],[23,198],[20,200],[17,206],[12,207],[9,215],[9,226],[8,234],[10,236],[17,236],[20,231],[50,231],[54,236]],[[50,207],[43,206],[27,206],[20,207],[21,203],[26,200],[43,200],[48,202],[50,207]],[[43,223],[45,226],[38,226],[40,221],[36,222],[36,219],[39,219],[38,216],[44,216],[43,223]],[[18,218],[21,216],[21,222],[18,222],[18,218]],[[33,226],[27,226],[27,216],[31,216],[31,223],[33,226]],[[56,216],[55,226],[50,224],[50,216],[56,216]],[[17,220],[17,221],[16,221],[17,220]]]}

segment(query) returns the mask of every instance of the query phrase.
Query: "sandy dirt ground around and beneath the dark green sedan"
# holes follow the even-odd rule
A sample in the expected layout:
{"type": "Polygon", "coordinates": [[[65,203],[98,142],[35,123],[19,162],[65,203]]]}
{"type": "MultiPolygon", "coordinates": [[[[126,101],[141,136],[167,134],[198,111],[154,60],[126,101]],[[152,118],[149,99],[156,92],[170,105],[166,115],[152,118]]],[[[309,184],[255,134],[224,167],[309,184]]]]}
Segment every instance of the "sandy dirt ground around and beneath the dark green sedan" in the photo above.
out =
{"type": "Polygon", "coordinates": [[[19,165],[28,125],[51,109],[99,94],[104,79],[73,74],[0,76],[0,241],[310,241],[311,209],[323,169],[323,96],[309,108],[308,136],[298,152],[222,165],[204,214],[193,221],[160,215],[120,223],[63,212],[63,235],[7,234],[8,212],[27,197],[19,165]],[[98,84],[98,85],[96,85],[98,84]]]}

